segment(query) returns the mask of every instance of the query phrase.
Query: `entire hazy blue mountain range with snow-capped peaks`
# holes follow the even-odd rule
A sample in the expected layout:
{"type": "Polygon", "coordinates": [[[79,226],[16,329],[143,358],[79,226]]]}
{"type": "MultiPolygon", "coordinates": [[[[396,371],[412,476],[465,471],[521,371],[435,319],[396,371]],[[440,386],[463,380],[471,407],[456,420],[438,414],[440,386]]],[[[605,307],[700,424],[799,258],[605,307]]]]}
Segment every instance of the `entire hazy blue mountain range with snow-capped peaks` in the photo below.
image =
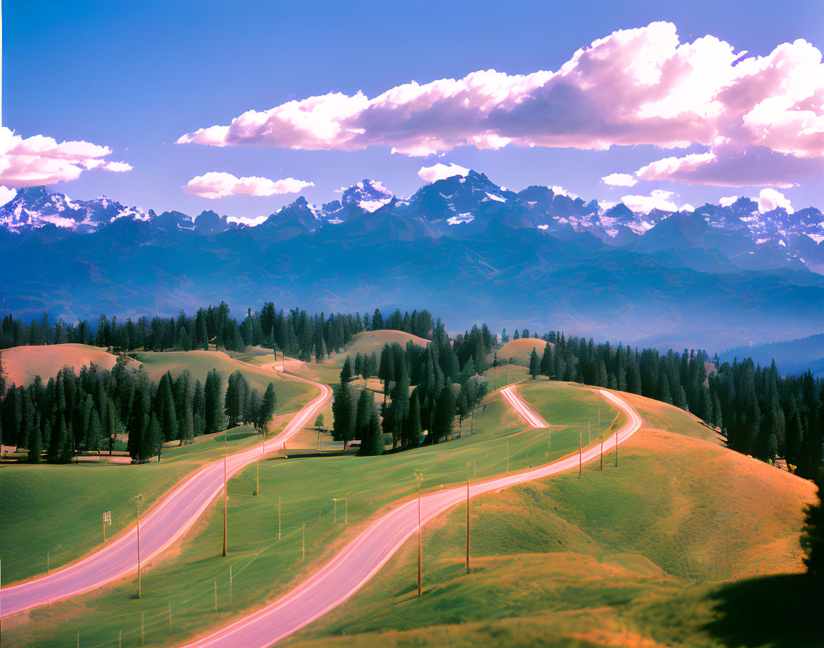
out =
{"type": "Polygon", "coordinates": [[[824,329],[824,216],[747,198],[639,214],[470,171],[409,198],[369,180],[320,206],[301,196],[255,227],[34,187],[0,225],[0,308],[22,316],[398,306],[459,328],[706,349],[824,329]]]}

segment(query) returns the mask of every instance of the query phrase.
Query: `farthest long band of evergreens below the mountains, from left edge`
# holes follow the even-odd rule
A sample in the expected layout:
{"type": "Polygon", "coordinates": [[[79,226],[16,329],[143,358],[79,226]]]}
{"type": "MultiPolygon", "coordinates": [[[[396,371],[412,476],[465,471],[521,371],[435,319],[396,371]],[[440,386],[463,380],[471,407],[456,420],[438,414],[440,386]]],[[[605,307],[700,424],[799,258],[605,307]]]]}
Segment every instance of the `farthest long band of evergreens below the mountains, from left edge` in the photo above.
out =
{"type": "Polygon", "coordinates": [[[208,350],[208,345],[240,351],[246,346],[263,345],[285,351],[299,359],[322,362],[331,351],[339,351],[349,339],[362,331],[395,329],[415,336],[428,337],[433,330],[433,318],[428,311],[414,311],[410,315],[400,310],[386,321],[380,309],[363,319],[354,314],[321,312],[309,315],[294,309],[286,314],[265,303],[260,312],[246,312],[241,322],[230,317],[227,303],[199,308],[194,315],[180,311],[177,317],[139,317],[124,321],[101,315],[96,329],[86,320],[69,324],[59,319],[53,322],[48,315],[28,324],[11,314],[2,318],[0,349],[24,345],[85,344],[111,347],[114,350],[208,350]]]}

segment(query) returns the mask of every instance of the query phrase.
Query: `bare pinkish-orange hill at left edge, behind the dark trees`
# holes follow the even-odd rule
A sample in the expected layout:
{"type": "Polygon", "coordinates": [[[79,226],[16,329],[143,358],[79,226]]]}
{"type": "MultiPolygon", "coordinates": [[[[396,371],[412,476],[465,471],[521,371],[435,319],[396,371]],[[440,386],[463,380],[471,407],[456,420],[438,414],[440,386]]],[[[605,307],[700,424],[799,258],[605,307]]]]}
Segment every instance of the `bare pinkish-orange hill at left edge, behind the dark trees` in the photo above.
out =
{"type": "MultiPolygon", "coordinates": [[[[15,383],[17,387],[28,386],[37,375],[45,383],[63,366],[73,367],[74,373],[80,373],[84,364],[89,366],[91,363],[111,369],[116,359],[116,355],[103,347],[87,345],[15,346],[2,352],[6,382],[15,383]]],[[[132,363],[132,366],[137,367],[137,364],[132,363]]]]}

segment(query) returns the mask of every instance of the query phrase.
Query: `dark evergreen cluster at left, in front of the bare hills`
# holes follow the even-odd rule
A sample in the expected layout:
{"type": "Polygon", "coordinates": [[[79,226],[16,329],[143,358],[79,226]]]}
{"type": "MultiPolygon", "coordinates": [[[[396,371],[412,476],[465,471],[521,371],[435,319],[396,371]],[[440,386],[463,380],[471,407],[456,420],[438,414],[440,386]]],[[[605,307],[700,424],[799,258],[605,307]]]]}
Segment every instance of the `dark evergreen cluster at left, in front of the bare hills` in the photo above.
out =
{"type": "Polygon", "coordinates": [[[32,463],[44,452],[51,463],[68,463],[82,449],[108,449],[109,439],[124,433],[131,457],[143,461],[159,457],[166,441],[187,443],[241,423],[262,430],[277,406],[274,384],[261,398],[240,372],[232,373],[224,392],[215,369],[205,384],[188,370],[153,383],[143,367],[128,369],[122,358],[111,371],[92,363],[75,375],[63,367],[48,383],[35,376],[28,387],[12,383],[7,390],[0,372],[2,392],[0,438],[28,449],[32,463]]]}

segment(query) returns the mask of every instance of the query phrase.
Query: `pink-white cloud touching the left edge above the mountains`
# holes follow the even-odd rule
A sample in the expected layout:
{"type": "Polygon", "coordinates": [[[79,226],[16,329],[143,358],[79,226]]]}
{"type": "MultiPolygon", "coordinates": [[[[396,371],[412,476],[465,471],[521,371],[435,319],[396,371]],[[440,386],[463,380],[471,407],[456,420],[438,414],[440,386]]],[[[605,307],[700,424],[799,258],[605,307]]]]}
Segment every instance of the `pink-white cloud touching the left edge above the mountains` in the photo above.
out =
{"type": "Polygon", "coordinates": [[[107,146],[63,142],[43,135],[23,138],[0,126],[0,185],[26,187],[75,180],[88,169],[131,171],[126,162],[110,162],[107,146]]]}

